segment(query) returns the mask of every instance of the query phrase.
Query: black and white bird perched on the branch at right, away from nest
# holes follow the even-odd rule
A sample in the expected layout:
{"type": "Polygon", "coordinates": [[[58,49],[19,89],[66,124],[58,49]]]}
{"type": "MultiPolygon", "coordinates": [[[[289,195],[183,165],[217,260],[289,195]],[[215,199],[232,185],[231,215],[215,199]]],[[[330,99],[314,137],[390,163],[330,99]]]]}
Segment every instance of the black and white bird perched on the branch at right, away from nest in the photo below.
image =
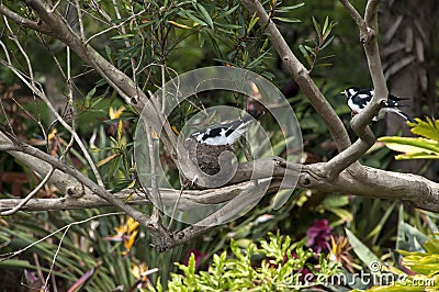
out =
{"type": "MultiPolygon", "coordinates": [[[[365,106],[371,102],[374,91],[371,88],[360,89],[356,87],[350,87],[341,91],[340,93],[344,93],[346,96],[348,106],[352,111],[352,115],[354,115],[364,110],[365,106]]],[[[412,116],[398,109],[399,106],[404,106],[399,104],[399,101],[403,100],[405,99],[389,94],[386,104],[380,110],[378,116],[374,116],[372,119],[372,121],[376,122],[379,119],[382,119],[386,112],[394,112],[410,123],[417,123],[412,116]]]]}

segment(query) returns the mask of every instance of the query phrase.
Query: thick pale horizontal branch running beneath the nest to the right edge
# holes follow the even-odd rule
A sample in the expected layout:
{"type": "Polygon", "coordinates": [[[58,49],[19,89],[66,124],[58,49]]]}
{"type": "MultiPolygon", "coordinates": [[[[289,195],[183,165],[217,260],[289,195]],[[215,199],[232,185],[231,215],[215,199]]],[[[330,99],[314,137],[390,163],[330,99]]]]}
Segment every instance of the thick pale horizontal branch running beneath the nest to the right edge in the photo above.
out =
{"type": "MultiPolygon", "coordinates": [[[[55,159],[55,158],[54,158],[55,159]]],[[[292,162],[288,162],[279,157],[270,159],[260,159],[249,161],[239,165],[238,171],[235,175],[234,181],[236,184],[207,190],[184,190],[181,194],[179,209],[191,210],[196,204],[215,204],[224,203],[237,194],[241,193],[247,189],[248,182],[243,181],[251,177],[251,169],[257,170],[255,175],[258,179],[272,178],[272,183],[268,190],[268,193],[279,190],[280,180],[283,178],[282,173],[299,175],[300,188],[319,190],[325,192],[337,192],[346,194],[356,194],[361,196],[376,198],[376,199],[394,199],[408,201],[414,206],[439,212],[439,183],[425,179],[417,175],[412,173],[399,173],[386,170],[374,169],[370,167],[362,167],[357,169],[354,172],[345,170],[336,179],[329,180],[328,175],[325,172],[325,162],[300,166],[292,162]],[[268,168],[268,164],[272,164],[274,170],[273,173],[264,173],[263,168],[268,168]],[[296,170],[301,169],[297,173],[296,170]],[[245,173],[245,175],[244,175],[245,173]]],[[[295,188],[296,186],[292,182],[290,186],[282,184],[282,188],[295,188]]],[[[124,190],[116,194],[111,194],[114,200],[124,201],[132,190],[124,190]]],[[[164,200],[164,204],[172,205],[179,195],[179,190],[160,189],[160,194],[164,200]]],[[[66,200],[49,201],[47,199],[41,199],[38,201],[31,200],[27,204],[29,211],[38,210],[42,201],[53,203],[53,206],[63,206],[61,209],[76,209],[92,198],[92,194],[86,194],[80,200],[66,200]],[[77,202],[75,202],[77,201],[77,202]],[[33,205],[35,204],[35,205],[33,205]],[[71,206],[70,206],[71,205],[71,206]]],[[[94,195],[95,198],[95,195],[94,195]]],[[[93,207],[93,204],[102,206],[109,205],[103,200],[95,198],[97,202],[88,205],[93,207]]],[[[3,211],[13,205],[19,200],[1,200],[0,211],[3,211]],[[4,204],[3,204],[4,202],[4,204]]],[[[47,203],[47,204],[49,204],[47,203]]],[[[149,203],[149,201],[143,196],[135,194],[130,201],[132,204],[149,203]],[[143,202],[142,202],[143,201],[143,202]]],[[[59,209],[58,209],[59,210],[59,209]]]]}

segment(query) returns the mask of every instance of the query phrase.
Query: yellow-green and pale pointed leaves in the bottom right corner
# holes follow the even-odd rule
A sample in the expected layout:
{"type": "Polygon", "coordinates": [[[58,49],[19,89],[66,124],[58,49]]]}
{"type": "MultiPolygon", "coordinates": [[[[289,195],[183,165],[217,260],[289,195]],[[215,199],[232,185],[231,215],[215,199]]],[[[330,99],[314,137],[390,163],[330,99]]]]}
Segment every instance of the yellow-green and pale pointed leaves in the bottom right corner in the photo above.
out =
{"type": "MultiPolygon", "coordinates": [[[[424,214],[424,218],[430,226],[429,233],[435,233],[432,238],[423,234],[418,228],[404,221],[404,210],[399,207],[397,224],[396,252],[392,251],[384,262],[352,233],[347,231],[353,251],[368,266],[369,273],[367,291],[437,291],[438,289],[438,246],[435,214],[424,214]],[[401,256],[403,257],[401,257],[401,256]],[[389,261],[389,258],[393,259],[389,261]],[[373,285],[373,287],[372,287],[373,285]]],[[[352,288],[354,291],[363,291],[360,282],[352,288]]],[[[363,283],[364,284],[364,281],[363,283]]]]}

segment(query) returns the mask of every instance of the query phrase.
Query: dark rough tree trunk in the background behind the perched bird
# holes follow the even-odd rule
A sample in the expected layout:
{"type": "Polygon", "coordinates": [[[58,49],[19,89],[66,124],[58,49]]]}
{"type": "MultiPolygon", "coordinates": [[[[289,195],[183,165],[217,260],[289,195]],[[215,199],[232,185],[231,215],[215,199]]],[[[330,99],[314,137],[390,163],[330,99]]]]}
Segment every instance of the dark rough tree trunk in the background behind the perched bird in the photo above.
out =
{"type": "MultiPolygon", "coordinates": [[[[380,19],[384,76],[392,94],[407,98],[403,110],[416,117],[438,116],[436,79],[437,48],[435,27],[438,26],[437,0],[386,1],[380,19]]],[[[409,127],[401,117],[390,114],[386,119],[386,135],[409,135],[409,127]]],[[[393,169],[418,172],[424,160],[398,161],[393,169]]],[[[429,167],[427,177],[438,178],[438,169],[429,167]],[[436,172],[436,173],[435,173],[436,172]]]]}

